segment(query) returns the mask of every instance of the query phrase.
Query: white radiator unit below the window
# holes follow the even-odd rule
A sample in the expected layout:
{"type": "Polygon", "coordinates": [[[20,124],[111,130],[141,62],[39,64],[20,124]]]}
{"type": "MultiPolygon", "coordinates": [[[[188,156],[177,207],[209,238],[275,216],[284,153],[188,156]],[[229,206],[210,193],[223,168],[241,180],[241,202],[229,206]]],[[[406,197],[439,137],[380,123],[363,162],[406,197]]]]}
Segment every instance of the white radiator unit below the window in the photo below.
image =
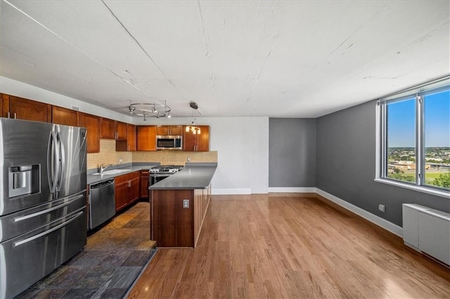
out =
{"type": "Polygon", "coordinates": [[[403,204],[403,240],[407,246],[450,265],[450,213],[403,204]]]}

